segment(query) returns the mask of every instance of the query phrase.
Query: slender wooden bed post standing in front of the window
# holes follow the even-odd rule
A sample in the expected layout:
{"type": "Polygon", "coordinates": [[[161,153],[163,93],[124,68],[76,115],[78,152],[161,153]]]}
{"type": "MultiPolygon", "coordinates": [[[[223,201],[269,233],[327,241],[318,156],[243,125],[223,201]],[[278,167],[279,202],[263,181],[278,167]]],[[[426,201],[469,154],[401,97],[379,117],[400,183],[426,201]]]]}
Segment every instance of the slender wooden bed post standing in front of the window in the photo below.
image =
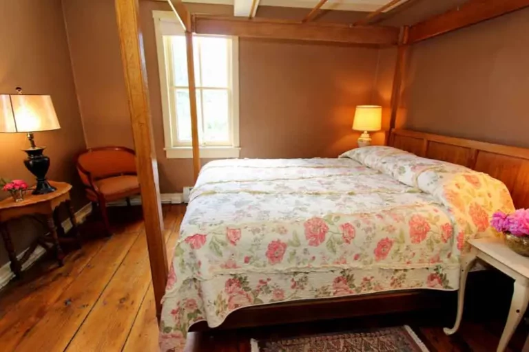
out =
{"type": "Polygon", "coordinates": [[[193,33],[185,31],[187,51],[187,79],[189,80],[189,111],[191,112],[191,143],[193,146],[193,171],[195,181],[200,172],[200,151],[198,146],[198,117],[196,110],[195,63],[193,55],[193,33]]]}

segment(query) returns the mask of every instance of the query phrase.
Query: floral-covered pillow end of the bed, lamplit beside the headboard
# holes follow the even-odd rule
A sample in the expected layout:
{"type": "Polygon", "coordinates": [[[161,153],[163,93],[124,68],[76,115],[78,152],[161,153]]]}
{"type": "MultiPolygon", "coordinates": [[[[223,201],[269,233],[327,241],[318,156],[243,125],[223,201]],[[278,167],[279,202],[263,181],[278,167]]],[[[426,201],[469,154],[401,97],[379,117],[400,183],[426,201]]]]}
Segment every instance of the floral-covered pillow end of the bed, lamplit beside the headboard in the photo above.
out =
{"type": "Polygon", "coordinates": [[[499,236],[489,223],[492,213],[515,210],[503,182],[464,166],[417,157],[388,146],[358,148],[340,157],[363,160],[373,170],[441,201],[455,225],[455,253],[468,250],[467,241],[473,237],[499,236]]]}

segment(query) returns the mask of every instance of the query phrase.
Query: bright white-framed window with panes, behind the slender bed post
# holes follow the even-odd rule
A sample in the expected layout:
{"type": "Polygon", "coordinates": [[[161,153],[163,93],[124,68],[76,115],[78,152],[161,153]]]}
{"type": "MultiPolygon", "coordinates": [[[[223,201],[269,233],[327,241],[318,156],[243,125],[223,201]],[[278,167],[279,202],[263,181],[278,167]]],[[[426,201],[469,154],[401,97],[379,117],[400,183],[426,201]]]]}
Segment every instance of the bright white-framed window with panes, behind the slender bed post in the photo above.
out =
{"type": "MultiPolygon", "coordinates": [[[[154,11],[167,157],[191,157],[191,113],[183,28],[154,11]]],[[[194,35],[200,157],[238,157],[238,41],[194,35]]]]}

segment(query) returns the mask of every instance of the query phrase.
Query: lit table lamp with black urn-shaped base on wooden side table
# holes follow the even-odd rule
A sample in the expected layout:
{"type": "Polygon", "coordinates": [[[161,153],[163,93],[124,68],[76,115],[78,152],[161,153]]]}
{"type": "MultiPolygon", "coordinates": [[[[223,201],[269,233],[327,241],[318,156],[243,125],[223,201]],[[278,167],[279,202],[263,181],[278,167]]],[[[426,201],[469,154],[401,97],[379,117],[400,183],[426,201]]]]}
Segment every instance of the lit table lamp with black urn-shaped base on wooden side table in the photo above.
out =
{"type": "Polygon", "coordinates": [[[34,195],[45,195],[56,190],[48,183],[46,173],[50,168],[50,158],[43,155],[44,146],[36,146],[33,132],[60,129],[59,120],[50,96],[22,94],[0,94],[0,132],[26,133],[30,148],[24,149],[28,159],[25,167],[37,177],[34,195]]]}

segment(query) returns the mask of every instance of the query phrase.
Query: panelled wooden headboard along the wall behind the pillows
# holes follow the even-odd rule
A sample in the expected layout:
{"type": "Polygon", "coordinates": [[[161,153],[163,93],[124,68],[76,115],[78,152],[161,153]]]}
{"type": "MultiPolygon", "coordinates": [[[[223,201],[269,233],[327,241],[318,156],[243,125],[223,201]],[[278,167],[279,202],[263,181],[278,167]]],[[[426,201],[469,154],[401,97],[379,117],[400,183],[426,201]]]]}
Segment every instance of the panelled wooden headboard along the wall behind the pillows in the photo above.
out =
{"type": "Polygon", "coordinates": [[[506,184],[517,208],[529,208],[529,149],[404,129],[393,130],[388,145],[488,173],[506,184]]]}

